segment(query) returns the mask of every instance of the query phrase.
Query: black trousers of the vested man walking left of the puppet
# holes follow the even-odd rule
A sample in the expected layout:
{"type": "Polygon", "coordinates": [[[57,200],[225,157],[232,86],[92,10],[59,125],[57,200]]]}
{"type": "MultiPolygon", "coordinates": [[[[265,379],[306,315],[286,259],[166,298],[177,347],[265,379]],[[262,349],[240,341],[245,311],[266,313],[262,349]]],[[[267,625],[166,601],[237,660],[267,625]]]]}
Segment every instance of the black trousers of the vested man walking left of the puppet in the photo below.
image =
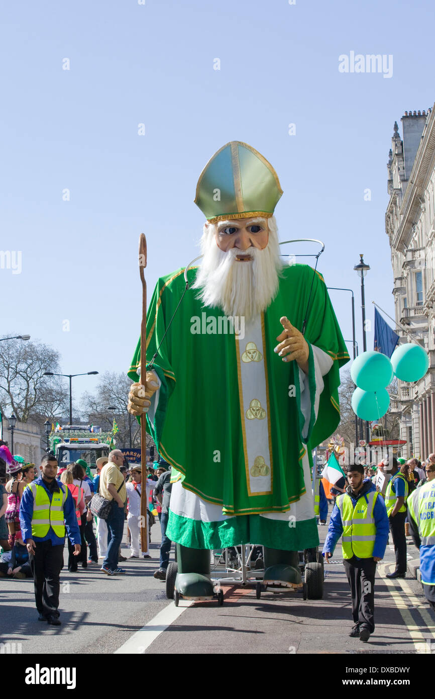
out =
{"type": "Polygon", "coordinates": [[[64,565],[64,544],[53,546],[50,539],[36,541],[29,563],[34,576],[36,609],[45,616],[59,617],[59,575],[64,565]]]}

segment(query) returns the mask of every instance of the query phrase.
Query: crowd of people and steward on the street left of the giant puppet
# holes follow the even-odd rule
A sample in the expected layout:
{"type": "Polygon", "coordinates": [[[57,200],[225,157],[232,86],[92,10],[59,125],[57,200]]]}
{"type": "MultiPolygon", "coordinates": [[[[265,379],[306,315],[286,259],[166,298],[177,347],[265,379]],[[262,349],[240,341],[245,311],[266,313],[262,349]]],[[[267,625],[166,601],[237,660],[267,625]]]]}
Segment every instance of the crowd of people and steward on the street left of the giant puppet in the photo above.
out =
{"type": "MultiPolygon", "coordinates": [[[[1,454],[4,456],[5,454],[1,454]]],[[[68,545],[68,571],[98,564],[106,575],[122,575],[124,524],[130,559],[151,559],[148,545],[154,514],[161,525],[161,552],[157,579],[165,579],[171,542],[165,535],[170,498],[170,465],[149,463],[147,468],[148,540],[141,545],[141,466],[129,466],[119,449],[96,461],[92,477],[83,459],[58,468],[52,454],[43,456],[39,473],[33,463],[9,454],[6,486],[0,484],[0,577],[34,578],[40,621],[59,625],[59,575],[68,545]],[[112,501],[108,517],[94,517],[94,493],[112,501]],[[153,514],[154,513],[154,514],[153,514]],[[95,531],[94,531],[95,526],[95,531]],[[88,554],[89,548],[89,554],[88,554]]]]}

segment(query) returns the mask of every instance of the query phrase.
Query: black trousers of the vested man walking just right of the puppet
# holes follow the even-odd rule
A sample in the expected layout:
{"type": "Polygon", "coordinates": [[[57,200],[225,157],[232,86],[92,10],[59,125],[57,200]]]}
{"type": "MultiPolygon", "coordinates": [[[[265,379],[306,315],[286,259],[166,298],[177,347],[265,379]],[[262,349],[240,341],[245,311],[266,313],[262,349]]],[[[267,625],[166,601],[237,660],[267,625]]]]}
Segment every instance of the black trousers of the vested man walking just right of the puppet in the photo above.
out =
{"type": "Polygon", "coordinates": [[[354,624],[374,632],[374,577],[376,563],[371,559],[344,559],[344,570],[352,594],[352,617],[354,624]]]}

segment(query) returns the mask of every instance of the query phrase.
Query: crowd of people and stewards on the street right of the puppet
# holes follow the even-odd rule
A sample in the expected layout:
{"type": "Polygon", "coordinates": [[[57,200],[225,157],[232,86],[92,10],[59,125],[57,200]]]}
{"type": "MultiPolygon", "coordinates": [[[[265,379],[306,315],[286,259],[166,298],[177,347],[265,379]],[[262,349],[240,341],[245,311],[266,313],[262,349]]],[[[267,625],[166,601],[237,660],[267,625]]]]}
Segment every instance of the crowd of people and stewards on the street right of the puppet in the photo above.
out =
{"type": "MultiPolygon", "coordinates": [[[[351,637],[367,642],[374,632],[374,579],[391,532],[395,570],[407,571],[406,536],[420,549],[420,575],[425,597],[435,610],[435,454],[425,468],[418,459],[383,459],[378,465],[346,468],[346,481],[334,484],[330,525],[323,547],[329,562],[341,538],[346,577],[351,588],[354,626],[351,637]],[[347,486],[347,487],[346,487],[347,486]]],[[[322,515],[320,514],[320,517],[322,515]]],[[[325,515],[323,515],[325,517],[325,515]]]]}

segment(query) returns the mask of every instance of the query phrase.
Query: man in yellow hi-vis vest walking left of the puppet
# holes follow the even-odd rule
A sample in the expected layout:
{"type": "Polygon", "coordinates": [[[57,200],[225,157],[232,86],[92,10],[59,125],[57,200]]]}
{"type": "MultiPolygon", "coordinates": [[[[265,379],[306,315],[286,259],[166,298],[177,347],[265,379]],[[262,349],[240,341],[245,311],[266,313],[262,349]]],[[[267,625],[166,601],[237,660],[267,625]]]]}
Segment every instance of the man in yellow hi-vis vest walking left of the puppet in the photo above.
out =
{"type": "Polygon", "coordinates": [[[20,524],[34,575],[38,619],[59,626],[59,575],[64,565],[65,528],[74,544],[74,556],[80,554],[80,529],[73,497],[56,480],[56,457],[43,456],[40,470],[41,477],[22,494],[20,524]]]}

